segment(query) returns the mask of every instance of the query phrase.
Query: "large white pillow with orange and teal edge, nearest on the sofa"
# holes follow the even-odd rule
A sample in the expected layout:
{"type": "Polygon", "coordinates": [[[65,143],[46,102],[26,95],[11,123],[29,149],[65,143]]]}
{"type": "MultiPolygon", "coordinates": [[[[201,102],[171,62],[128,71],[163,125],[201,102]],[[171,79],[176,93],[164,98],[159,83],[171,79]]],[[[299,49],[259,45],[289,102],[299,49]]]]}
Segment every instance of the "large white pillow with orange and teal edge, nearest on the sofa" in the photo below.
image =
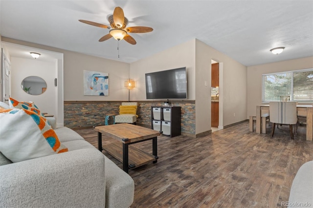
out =
{"type": "Polygon", "coordinates": [[[0,108],[0,151],[12,162],[68,151],[47,121],[33,111],[0,108]]]}

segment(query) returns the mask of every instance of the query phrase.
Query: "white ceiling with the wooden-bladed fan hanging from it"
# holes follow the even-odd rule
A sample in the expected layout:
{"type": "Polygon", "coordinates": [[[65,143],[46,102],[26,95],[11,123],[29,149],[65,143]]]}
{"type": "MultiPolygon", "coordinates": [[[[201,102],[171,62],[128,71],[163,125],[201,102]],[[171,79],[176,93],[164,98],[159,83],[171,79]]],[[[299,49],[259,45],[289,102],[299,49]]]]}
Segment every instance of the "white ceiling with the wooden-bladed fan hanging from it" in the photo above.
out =
{"type": "Polygon", "coordinates": [[[121,62],[199,39],[250,66],[313,56],[313,0],[0,0],[0,34],[121,62]],[[109,25],[116,6],[128,26],[154,28],[120,41],[120,58],[118,41],[98,42],[108,29],[78,21],[109,25]]]}

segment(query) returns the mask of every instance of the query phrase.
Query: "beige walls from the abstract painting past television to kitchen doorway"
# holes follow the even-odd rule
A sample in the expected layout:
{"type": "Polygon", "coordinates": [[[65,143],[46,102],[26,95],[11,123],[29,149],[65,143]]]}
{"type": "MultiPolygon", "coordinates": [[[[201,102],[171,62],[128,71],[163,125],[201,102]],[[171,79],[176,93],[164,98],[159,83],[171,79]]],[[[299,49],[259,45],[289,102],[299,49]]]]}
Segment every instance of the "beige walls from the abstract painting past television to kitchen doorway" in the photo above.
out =
{"type": "Polygon", "coordinates": [[[188,100],[196,100],[196,134],[211,129],[210,85],[211,59],[213,59],[222,66],[220,70],[222,127],[247,118],[246,66],[199,40],[179,44],[131,64],[3,37],[2,41],[63,53],[65,101],[126,101],[128,90],[124,87],[124,81],[127,78],[136,81],[136,88],[131,91],[131,100],[146,100],[145,73],[186,66],[188,100]],[[110,96],[84,96],[83,70],[108,72],[110,96]],[[207,81],[208,86],[204,86],[204,81],[207,81]]]}

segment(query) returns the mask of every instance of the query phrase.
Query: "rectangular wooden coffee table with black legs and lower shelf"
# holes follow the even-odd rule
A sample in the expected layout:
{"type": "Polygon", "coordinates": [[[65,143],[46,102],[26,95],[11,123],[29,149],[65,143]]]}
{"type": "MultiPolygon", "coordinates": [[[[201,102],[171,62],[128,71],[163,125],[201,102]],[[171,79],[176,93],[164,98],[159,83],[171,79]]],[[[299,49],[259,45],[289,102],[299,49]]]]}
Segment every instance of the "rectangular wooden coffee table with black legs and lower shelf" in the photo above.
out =
{"type": "Polygon", "coordinates": [[[106,150],[122,162],[125,172],[128,173],[129,168],[157,162],[157,136],[161,132],[131,124],[102,125],[94,127],[94,130],[98,131],[98,149],[100,151],[106,150]],[[116,142],[102,145],[102,134],[116,139],[116,142]],[[152,154],[135,146],[130,146],[147,140],[152,140],[152,154]]]}

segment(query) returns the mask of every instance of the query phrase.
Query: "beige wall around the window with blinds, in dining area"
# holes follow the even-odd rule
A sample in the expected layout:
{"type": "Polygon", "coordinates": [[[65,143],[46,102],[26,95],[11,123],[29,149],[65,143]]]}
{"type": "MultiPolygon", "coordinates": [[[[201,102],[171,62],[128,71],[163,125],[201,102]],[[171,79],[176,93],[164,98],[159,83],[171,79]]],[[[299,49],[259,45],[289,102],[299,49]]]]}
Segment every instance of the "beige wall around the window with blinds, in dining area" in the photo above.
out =
{"type": "Polygon", "coordinates": [[[247,67],[247,117],[255,115],[262,103],[262,74],[313,68],[313,57],[293,59],[247,67]]]}

